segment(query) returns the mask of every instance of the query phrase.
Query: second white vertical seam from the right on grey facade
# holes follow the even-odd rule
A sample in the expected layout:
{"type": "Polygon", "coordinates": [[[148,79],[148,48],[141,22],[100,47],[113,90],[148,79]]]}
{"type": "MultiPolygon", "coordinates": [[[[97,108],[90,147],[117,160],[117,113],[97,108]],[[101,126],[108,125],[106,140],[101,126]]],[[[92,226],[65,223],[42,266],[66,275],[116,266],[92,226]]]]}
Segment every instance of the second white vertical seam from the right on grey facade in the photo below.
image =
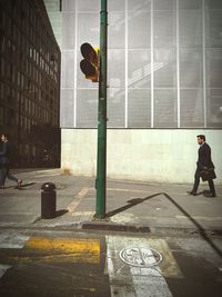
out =
{"type": "Polygon", "coordinates": [[[178,85],[178,128],[181,127],[181,118],[180,118],[180,40],[179,40],[179,0],[175,0],[175,19],[176,19],[176,85],[178,85]]]}

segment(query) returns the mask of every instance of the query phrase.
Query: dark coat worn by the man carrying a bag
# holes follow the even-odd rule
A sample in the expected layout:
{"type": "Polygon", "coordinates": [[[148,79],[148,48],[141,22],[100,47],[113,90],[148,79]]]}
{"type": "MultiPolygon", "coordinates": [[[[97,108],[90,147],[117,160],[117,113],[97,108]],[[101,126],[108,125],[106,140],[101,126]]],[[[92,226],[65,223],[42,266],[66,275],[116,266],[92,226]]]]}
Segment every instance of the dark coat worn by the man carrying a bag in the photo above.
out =
{"type": "Polygon", "coordinates": [[[210,146],[204,142],[198,151],[199,158],[198,158],[198,169],[203,170],[205,168],[214,168],[214,165],[211,159],[211,148],[210,146]]]}

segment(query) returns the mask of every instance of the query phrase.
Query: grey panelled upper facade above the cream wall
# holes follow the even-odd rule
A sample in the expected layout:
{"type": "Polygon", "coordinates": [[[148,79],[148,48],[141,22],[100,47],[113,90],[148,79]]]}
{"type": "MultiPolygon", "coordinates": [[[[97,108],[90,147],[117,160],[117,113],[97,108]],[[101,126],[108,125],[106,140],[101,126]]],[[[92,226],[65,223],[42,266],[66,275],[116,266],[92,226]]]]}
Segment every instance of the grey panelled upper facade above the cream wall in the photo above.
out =
{"type": "MultiPolygon", "coordinates": [[[[222,1],[109,0],[108,23],[109,128],[222,128],[222,1]]],[[[63,0],[62,26],[61,126],[97,128],[79,63],[83,42],[99,47],[100,0],[63,0]]]]}

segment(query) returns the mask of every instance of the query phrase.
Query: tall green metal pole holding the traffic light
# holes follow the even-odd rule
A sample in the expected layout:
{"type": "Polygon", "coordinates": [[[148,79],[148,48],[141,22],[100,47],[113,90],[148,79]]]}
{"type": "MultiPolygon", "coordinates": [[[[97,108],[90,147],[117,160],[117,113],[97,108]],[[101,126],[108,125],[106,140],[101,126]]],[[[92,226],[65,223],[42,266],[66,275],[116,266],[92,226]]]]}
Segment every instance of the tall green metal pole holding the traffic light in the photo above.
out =
{"type": "Polygon", "coordinates": [[[97,212],[95,218],[105,217],[107,196],[107,0],[101,0],[100,11],[100,78],[98,110],[98,158],[97,158],[97,212]]]}

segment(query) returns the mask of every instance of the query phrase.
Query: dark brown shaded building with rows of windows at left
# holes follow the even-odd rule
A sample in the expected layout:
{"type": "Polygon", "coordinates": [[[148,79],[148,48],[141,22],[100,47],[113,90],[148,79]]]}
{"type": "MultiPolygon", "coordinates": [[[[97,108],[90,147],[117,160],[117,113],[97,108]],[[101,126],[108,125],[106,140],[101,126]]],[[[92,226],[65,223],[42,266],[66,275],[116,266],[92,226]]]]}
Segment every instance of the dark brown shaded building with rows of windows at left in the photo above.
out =
{"type": "Polygon", "coordinates": [[[60,56],[42,0],[0,0],[0,131],[18,167],[60,165],[60,56]]]}

